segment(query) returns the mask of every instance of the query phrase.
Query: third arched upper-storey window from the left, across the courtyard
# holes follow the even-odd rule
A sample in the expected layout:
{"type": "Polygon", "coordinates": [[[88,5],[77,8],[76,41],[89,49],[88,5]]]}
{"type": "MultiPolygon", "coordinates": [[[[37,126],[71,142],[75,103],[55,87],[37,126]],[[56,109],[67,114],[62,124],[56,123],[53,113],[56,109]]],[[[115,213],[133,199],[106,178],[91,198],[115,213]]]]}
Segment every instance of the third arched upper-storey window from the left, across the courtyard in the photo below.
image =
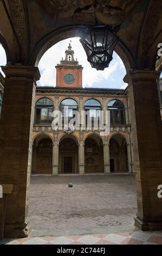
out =
{"type": "Polygon", "coordinates": [[[85,103],[85,111],[86,111],[86,125],[88,124],[88,116],[92,120],[92,125],[99,125],[99,118],[101,112],[101,104],[98,100],[90,99],[85,103]],[[89,113],[89,114],[87,114],[89,113]]]}

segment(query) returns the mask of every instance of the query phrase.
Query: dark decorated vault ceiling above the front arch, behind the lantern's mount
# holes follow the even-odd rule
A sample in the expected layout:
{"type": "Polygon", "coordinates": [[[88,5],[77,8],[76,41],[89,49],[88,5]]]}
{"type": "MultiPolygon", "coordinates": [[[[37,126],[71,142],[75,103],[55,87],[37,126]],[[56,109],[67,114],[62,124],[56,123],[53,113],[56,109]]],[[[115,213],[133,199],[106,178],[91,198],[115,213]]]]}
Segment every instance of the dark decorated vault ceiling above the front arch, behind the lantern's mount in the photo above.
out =
{"type": "MultiPolygon", "coordinates": [[[[93,0],[48,0],[48,3],[37,0],[37,3],[52,20],[72,18],[75,13],[75,23],[82,23],[83,17],[84,21],[90,19],[94,22],[93,0]]],[[[95,8],[96,17],[105,25],[120,25],[140,3],[141,0],[98,0],[95,8]]]]}

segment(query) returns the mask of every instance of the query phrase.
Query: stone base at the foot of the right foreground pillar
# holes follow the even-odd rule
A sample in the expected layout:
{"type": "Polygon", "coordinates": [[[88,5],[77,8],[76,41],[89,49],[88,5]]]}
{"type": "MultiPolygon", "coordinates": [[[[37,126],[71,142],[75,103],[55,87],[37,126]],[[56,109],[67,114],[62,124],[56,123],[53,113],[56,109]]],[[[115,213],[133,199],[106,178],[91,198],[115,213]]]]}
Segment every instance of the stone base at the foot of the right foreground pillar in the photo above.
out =
{"type": "Polygon", "coordinates": [[[162,230],[162,221],[142,221],[139,217],[135,217],[135,226],[142,231],[162,230]]]}

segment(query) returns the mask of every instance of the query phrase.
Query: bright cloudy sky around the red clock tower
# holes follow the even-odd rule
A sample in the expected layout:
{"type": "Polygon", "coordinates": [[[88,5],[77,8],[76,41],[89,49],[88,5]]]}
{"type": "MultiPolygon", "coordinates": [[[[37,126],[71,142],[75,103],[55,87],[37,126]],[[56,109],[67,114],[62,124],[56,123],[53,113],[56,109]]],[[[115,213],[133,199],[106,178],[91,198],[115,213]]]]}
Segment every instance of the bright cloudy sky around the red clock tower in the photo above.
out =
{"type": "MultiPolygon", "coordinates": [[[[62,58],[65,58],[65,51],[69,42],[72,45],[72,50],[74,50],[74,58],[77,58],[79,64],[83,66],[83,87],[116,89],[125,89],[127,87],[127,84],[123,81],[126,70],[120,57],[114,52],[113,60],[109,67],[104,71],[97,71],[88,63],[86,52],[79,38],[60,41],[44,53],[38,65],[41,73],[41,79],[37,82],[38,86],[56,86],[55,66],[60,64],[62,58]]],[[[5,65],[6,62],[5,51],[0,45],[0,66],[5,65]]]]}

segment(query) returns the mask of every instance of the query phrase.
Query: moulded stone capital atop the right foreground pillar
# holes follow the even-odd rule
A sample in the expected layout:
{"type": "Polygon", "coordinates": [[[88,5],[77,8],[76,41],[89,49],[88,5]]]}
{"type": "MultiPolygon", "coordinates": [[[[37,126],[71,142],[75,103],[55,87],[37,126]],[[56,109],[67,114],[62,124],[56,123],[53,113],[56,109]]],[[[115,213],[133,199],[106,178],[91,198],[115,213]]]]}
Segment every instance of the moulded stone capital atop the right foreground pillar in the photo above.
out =
{"type": "Polygon", "coordinates": [[[155,82],[159,76],[160,72],[155,70],[130,70],[124,77],[124,82],[155,82]]]}

